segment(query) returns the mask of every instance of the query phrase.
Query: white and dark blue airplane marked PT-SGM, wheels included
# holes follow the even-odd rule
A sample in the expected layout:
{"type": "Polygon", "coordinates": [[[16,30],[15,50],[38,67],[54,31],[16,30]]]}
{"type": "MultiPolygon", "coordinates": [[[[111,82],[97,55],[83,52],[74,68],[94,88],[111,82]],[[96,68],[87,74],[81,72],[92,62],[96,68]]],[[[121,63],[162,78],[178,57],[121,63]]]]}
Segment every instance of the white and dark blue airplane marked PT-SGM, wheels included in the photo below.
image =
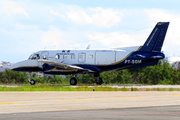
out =
{"type": "MultiPolygon", "coordinates": [[[[103,83],[100,73],[157,65],[165,55],[161,48],[169,22],[158,22],[143,46],[126,50],[40,50],[27,60],[12,65],[11,69],[21,72],[43,72],[52,75],[72,74],[70,85],[76,85],[77,74],[94,74],[96,84],[103,83]]],[[[33,79],[29,80],[35,85],[33,79]]]]}

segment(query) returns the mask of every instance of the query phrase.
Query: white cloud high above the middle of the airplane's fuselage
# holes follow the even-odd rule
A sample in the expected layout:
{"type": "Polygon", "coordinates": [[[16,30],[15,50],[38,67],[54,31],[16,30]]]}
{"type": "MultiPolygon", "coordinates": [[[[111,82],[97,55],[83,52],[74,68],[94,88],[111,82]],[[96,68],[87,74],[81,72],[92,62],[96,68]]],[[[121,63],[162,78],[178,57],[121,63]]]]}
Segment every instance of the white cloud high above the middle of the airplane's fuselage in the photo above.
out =
{"type": "Polygon", "coordinates": [[[66,15],[53,12],[51,14],[56,16],[61,16],[62,18],[67,18],[74,23],[78,24],[92,24],[99,27],[109,28],[116,23],[120,22],[121,16],[123,15],[118,10],[102,9],[100,7],[90,8],[87,11],[93,13],[92,15],[88,14],[85,10],[71,10],[67,12],[66,15]]]}

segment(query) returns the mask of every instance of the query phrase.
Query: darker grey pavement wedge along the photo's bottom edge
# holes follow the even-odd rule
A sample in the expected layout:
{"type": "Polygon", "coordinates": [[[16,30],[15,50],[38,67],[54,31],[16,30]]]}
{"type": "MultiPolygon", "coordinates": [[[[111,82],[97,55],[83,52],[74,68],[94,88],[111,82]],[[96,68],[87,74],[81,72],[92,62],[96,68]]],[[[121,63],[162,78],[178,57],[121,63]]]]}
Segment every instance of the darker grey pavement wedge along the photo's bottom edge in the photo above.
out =
{"type": "Polygon", "coordinates": [[[179,120],[180,106],[51,111],[0,115],[1,120],[179,120]]]}

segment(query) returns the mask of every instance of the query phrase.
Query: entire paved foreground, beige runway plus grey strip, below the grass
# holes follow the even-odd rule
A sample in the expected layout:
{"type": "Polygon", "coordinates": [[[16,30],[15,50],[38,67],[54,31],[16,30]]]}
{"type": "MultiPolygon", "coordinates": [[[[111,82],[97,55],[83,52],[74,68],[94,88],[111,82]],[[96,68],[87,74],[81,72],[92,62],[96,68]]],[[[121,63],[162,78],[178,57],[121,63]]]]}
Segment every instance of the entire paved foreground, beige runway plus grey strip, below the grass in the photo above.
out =
{"type": "Polygon", "coordinates": [[[0,92],[0,120],[179,120],[180,92],[0,92]]]}

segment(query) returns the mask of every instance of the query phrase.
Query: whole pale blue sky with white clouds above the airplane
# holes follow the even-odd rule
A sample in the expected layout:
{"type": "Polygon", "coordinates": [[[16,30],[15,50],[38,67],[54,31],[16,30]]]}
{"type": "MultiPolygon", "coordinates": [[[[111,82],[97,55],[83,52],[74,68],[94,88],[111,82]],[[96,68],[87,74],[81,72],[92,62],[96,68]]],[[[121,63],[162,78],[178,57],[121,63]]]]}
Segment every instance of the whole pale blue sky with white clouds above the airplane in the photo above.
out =
{"type": "Polygon", "coordinates": [[[0,61],[43,49],[143,45],[157,22],[170,22],[162,51],[180,55],[179,0],[0,0],[0,61]]]}

